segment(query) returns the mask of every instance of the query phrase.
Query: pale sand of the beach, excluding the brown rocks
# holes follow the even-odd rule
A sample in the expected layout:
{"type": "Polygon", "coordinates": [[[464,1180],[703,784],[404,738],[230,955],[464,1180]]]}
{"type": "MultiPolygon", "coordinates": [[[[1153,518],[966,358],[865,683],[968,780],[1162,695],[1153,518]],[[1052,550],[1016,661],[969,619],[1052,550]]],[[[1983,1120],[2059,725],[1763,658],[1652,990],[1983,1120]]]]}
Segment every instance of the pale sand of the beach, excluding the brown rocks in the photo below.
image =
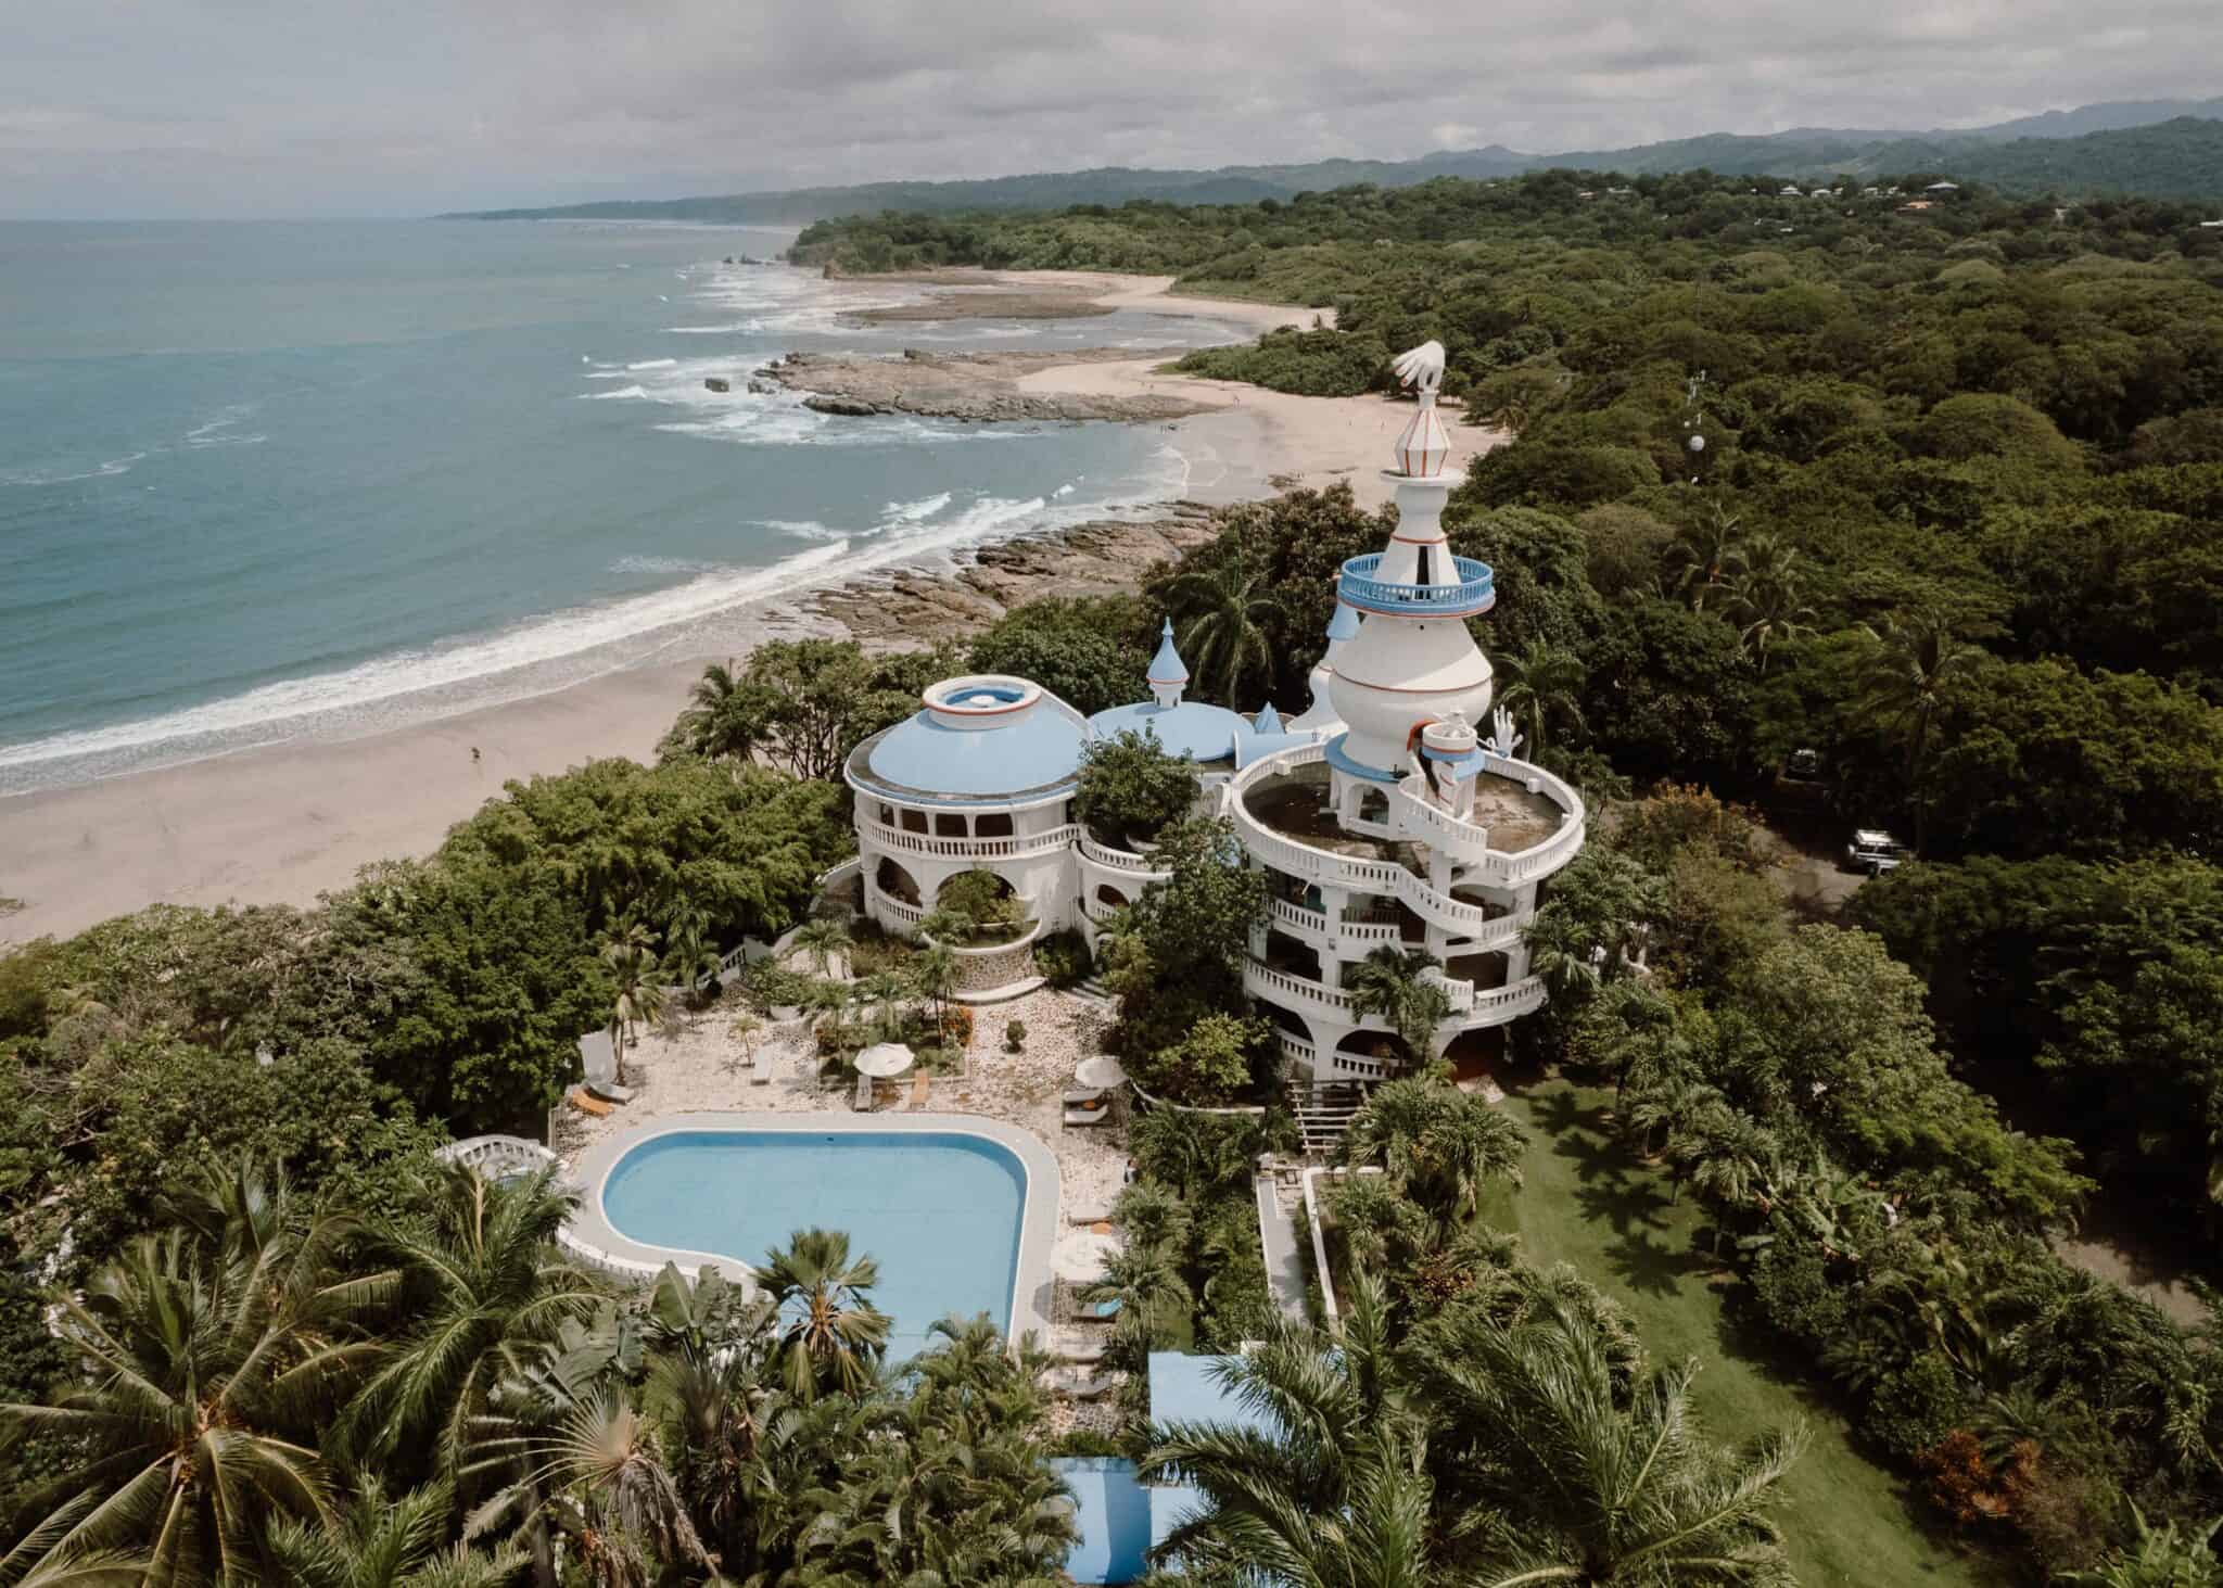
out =
{"type": "MultiPolygon", "coordinates": [[[[1312,309],[1174,298],[1172,278],[1067,271],[976,274],[985,285],[1063,289],[1116,307],[1238,320],[1260,331],[1312,325],[1312,309]]],[[[1165,425],[1189,460],[1189,500],[1223,505],[1292,485],[1349,480],[1387,500],[1380,469],[1412,409],[1383,398],[1296,398],[1165,376],[1143,363],[1038,369],[1040,391],[1169,391],[1212,411],[1165,425]]],[[[1489,431],[1452,427],[1463,467],[1489,431]]],[[[1163,549],[1163,547],[1160,547],[1163,549]]],[[[1147,556],[1127,563],[1132,580],[1147,556]]],[[[1031,594],[1018,589],[1018,596],[1031,594]]],[[[985,616],[991,614],[983,614],[985,616]]],[[[647,758],[685,705],[705,658],[765,638],[838,634],[805,603],[740,607],[711,634],[656,661],[507,705],[340,743],[298,743],[0,798],[0,945],[67,936],[149,903],[313,903],[380,858],[425,854],[507,778],[562,772],[598,756],[647,758]],[[476,754],[473,754],[476,750],[476,754]]]]}

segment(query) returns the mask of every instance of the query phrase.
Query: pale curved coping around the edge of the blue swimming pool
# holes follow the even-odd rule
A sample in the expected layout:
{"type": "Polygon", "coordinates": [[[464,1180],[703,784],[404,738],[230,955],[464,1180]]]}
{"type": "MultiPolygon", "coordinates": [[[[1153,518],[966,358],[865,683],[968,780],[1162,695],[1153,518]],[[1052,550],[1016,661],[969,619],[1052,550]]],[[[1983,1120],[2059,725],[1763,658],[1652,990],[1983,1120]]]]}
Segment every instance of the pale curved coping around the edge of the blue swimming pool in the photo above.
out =
{"type": "Polygon", "coordinates": [[[729,1252],[696,1252],[678,1245],[649,1245],[634,1241],[611,1225],[602,1210],[602,1185],[609,1172],[634,1148],[658,1137],[691,1132],[747,1132],[747,1134],[851,1134],[851,1137],[976,1137],[989,1141],[1014,1159],[1023,1179],[1018,1219],[1018,1266],[1011,1277],[1009,1339],[1036,1334],[1049,1343],[1054,1254],[1058,1234],[1058,1205],[1063,1199],[1063,1177],[1058,1154],[1049,1150],[1031,1130],[983,1114],[847,1114],[847,1112],[754,1112],[754,1110],[700,1110],[658,1114],[627,1130],[596,1141],[571,1163],[571,1181],[580,1190],[578,1210],[558,1232],[558,1243],[576,1259],[607,1274],[629,1281],[654,1279],[665,1263],[696,1270],[705,1263],[731,1281],[756,1290],[751,1266],[729,1252]]]}

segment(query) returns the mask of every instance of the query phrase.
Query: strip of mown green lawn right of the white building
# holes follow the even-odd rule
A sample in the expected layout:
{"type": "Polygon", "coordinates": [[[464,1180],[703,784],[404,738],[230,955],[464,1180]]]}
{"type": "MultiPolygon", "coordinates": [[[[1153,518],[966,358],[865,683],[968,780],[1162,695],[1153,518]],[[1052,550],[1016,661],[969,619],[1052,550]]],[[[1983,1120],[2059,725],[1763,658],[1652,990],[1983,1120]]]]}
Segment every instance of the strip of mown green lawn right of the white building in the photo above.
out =
{"type": "Polygon", "coordinates": [[[1698,1208],[1687,1199],[1669,1205],[1665,1179],[1621,1148],[1607,1119],[1609,1090],[1552,1081],[1505,1105],[1529,1130],[1525,1185],[1494,1188],[1483,1217],[1516,1232],[1532,1263],[1574,1263],[1616,1297],[1654,1361],[1696,1357],[1694,1399],[1716,1439],[1807,1423],[1810,1441],[1778,1512],[1803,1588],[2003,1581],[1930,1539],[1905,1486],[1852,1446],[1845,1419],[1763,1346],[1738,1337],[1716,1292],[1725,1279],[1703,1237],[1692,1245],[1703,1228],[1698,1208]]]}

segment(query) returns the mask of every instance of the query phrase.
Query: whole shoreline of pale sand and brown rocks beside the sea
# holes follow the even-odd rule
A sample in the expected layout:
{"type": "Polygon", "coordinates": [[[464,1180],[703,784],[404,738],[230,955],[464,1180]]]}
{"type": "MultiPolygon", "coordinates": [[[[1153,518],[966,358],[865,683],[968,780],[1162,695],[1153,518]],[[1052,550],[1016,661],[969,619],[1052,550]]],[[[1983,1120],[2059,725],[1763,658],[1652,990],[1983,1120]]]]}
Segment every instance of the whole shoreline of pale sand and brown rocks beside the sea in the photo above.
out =
{"type": "MultiPolygon", "coordinates": [[[[1129,307],[1269,327],[1309,309],[1172,300],[1169,278],[1025,271],[1014,285],[1065,287],[1129,307]]],[[[1156,374],[1154,360],[1065,363],[1020,376],[1040,394],[1180,396],[1198,409],[1163,423],[1189,463],[1183,503],[891,563],[736,605],[642,661],[545,694],[351,738],[211,754],[144,772],[0,798],[0,947],[69,936],[151,903],[311,905],[362,865],[420,856],[509,778],[558,774],[605,756],[654,756],[709,661],[769,638],[858,638],[903,647],[983,627],[1040,594],[1132,589],[1149,563],[1203,540],[1203,509],[1289,487],[1349,480],[1387,500],[1380,465],[1407,411],[1383,398],[1298,398],[1223,380],[1156,374]],[[1158,387],[1158,391],[1152,391],[1158,387]]],[[[1454,445],[1487,431],[1454,429],[1454,445]]],[[[1458,447],[1461,454],[1467,447],[1458,447]]]]}

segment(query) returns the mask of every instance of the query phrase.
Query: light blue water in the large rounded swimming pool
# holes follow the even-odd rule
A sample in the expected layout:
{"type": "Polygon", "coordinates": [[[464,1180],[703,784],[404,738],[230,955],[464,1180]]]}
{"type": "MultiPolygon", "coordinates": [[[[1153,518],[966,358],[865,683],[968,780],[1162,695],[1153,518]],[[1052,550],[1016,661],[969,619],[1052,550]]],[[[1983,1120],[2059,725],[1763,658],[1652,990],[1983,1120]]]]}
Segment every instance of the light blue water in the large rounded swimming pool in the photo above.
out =
{"type": "Polygon", "coordinates": [[[845,1230],[880,1263],[889,1357],[951,1312],[1011,1328],[1027,1172],[994,1141],[925,1132],[687,1130],[627,1152],[602,1214],[629,1241],[762,1263],[796,1230],[845,1230]]]}

